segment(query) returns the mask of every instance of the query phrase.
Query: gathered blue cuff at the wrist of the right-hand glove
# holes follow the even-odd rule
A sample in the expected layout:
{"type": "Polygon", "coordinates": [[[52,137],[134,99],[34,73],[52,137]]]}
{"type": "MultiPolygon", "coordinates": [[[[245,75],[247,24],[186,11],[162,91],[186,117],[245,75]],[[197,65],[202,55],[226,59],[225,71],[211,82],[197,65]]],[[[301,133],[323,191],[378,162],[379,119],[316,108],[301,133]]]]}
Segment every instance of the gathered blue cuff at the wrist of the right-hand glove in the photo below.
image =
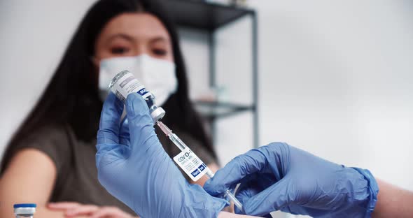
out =
{"type": "Polygon", "coordinates": [[[370,170],[362,169],[362,168],[355,168],[352,167],[354,170],[356,170],[358,173],[363,175],[365,177],[365,180],[368,182],[368,187],[370,191],[370,196],[369,196],[369,202],[367,203],[367,211],[365,213],[366,218],[372,217],[372,212],[374,208],[376,207],[377,203],[377,195],[379,194],[379,185],[377,184],[376,179],[374,179],[372,173],[370,173],[370,170]]]}

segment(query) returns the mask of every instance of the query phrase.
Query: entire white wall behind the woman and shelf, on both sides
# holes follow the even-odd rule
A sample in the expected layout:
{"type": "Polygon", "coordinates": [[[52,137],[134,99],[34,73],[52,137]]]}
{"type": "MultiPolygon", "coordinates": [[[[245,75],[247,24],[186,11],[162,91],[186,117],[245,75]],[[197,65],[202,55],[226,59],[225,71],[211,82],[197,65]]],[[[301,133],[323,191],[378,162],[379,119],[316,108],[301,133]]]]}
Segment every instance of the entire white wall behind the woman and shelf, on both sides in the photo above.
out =
{"type": "MultiPolygon", "coordinates": [[[[0,1],[1,152],[92,3],[0,1]]],[[[258,145],[287,142],[413,190],[412,1],[255,0],[241,7],[249,12],[213,33],[179,28],[191,99],[258,102],[258,145]]],[[[253,110],[218,117],[213,126],[221,164],[255,145],[253,110]]]]}

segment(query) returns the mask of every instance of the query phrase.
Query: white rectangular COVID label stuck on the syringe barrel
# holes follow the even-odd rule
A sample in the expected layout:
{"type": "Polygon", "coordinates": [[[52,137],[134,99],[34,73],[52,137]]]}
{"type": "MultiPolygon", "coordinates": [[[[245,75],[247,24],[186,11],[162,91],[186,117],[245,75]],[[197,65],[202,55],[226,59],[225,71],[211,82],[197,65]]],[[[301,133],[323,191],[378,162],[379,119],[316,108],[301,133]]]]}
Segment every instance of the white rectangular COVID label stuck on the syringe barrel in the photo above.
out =
{"type": "Polygon", "coordinates": [[[176,155],[174,161],[194,182],[207,172],[207,165],[189,147],[176,155]]]}

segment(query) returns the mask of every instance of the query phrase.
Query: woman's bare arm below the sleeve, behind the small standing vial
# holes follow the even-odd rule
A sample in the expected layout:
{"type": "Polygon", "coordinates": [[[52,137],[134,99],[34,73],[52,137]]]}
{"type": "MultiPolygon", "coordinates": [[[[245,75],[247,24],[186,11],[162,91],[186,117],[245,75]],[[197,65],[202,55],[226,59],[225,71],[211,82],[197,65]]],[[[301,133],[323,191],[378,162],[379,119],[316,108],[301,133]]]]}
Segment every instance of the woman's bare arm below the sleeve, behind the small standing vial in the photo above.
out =
{"type": "Polygon", "coordinates": [[[15,154],[0,178],[0,217],[14,217],[15,203],[36,203],[36,217],[64,218],[64,212],[46,208],[56,175],[55,163],[43,152],[28,148],[15,154]]]}

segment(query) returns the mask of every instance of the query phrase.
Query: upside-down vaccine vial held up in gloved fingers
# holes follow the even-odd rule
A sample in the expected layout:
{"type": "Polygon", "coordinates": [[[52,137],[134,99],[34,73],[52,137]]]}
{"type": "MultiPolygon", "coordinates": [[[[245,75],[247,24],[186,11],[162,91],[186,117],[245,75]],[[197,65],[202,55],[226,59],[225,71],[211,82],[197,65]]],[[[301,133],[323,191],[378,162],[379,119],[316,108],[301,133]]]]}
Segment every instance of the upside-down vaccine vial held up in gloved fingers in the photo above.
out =
{"type": "Polygon", "coordinates": [[[118,99],[123,101],[123,103],[126,102],[126,97],[129,94],[140,94],[148,105],[154,123],[165,116],[165,110],[155,105],[155,96],[149,92],[130,71],[120,71],[120,73],[116,74],[109,83],[109,90],[116,94],[118,99]]]}

